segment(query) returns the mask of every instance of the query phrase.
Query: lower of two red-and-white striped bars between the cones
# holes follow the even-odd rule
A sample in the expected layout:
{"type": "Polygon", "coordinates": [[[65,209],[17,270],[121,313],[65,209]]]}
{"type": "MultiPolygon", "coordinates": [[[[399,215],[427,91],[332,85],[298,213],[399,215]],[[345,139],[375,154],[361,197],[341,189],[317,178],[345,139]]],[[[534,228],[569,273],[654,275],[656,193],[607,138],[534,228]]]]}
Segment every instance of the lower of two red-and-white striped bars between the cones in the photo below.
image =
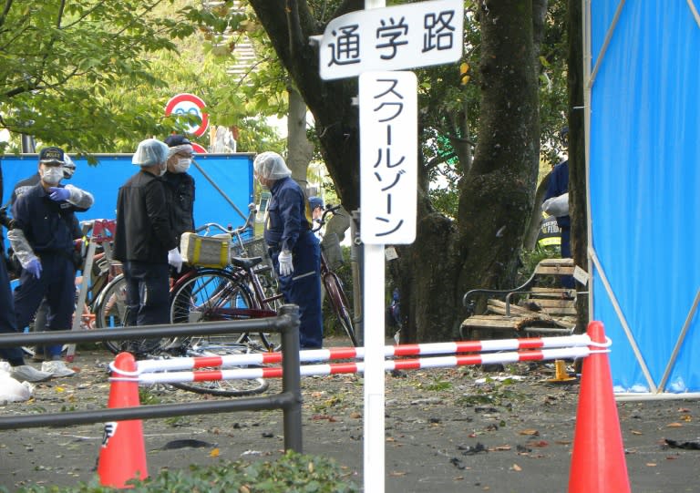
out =
{"type": "MultiPolygon", "coordinates": [[[[446,368],[462,365],[488,365],[496,363],[507,364],[522,361],[575,359],[586,357],[591,353],[592,351],[588,346],[579,346],[512,351],[506,353],[408,358],[400,360],[387,360],[385,362],[385,370],[416,370],[425,368],[446,368]]],[[[302,365],[300,368],[300,374],[302,376],[355,374],[364,373],[364,371],[365,364],[362,362],[336,363],[329,365],[302,365]]],[[[127,375],[122,372],[121,375],[123,376],[113,377],[111,380],[127,378],[129,380],[138,379],[139,383],[144,385],[175,384],[181,382],[218,381],[243,378],[279,378],[282,377],[282,367],[272,366],[263,368],[236,368],[229,370],[202,370],[196,372],[145,373],[141,375],[127,375]]]]}

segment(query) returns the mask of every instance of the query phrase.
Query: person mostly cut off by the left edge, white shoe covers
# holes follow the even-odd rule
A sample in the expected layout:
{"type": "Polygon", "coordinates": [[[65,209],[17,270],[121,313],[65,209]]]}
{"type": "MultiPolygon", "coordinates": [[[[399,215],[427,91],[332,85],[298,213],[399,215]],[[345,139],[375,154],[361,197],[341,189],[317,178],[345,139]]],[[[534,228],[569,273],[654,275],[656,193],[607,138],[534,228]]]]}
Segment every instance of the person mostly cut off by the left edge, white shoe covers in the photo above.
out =
{"type": "MultiPolygon", "coordinates": [[[[0,168],[0,202],[3,201],[3,170],[0,168]]],[[[15,227],[15,221],[7,217],[5,209],[0,212],[0,223],[8,230],[15,227]]],[[[3,243],[2,228],[0,228],[0,244],[3,243]]],[[[18,332],[15,321],[15,302],[12,299],[10,279],[5,266],[5,252],[0,252],[0,334],[13,334],[18,332]]],[[[53,375],[40,372],[30,365],[26,365],[25,356],[19,347],[0,348],[0,358],[7,361],[12,369],[10,376],[20,382],[43,382],[53,375]]]]}

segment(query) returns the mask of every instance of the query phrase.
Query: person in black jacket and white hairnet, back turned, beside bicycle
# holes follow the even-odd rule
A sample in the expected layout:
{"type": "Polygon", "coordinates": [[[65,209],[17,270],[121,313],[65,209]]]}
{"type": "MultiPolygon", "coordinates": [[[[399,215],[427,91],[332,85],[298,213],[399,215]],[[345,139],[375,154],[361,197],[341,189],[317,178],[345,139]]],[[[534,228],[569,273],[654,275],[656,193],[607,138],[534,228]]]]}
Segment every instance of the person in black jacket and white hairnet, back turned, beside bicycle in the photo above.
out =
{"type": "Polygon", "coordinates": [[[114,258],[123,264],[129,325],[170,322],[168,264],[180,272],[182,257],[160,178],[167,160],[168,146],[160,140],[139,142],[131,162],[141,169],[118,192],[114,258]]]}

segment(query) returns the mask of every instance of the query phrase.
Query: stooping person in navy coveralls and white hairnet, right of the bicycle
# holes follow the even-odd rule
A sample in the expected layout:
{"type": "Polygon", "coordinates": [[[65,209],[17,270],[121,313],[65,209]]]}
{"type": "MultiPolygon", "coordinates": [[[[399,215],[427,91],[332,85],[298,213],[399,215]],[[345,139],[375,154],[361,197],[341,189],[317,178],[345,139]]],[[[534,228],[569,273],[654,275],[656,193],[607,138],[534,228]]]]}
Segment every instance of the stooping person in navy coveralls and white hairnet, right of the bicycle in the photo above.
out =
{"type": "Polygon", "coordinates": [[[321,247],[311,232],[306,197],[282,156],[263,152],[253,169],[260,184],[270,189],[264,238],[273,266],[280,276],[280,289],[287,303],[299,306],[302,348],[319,348],[324,341],[321,313],[321,247]]]}

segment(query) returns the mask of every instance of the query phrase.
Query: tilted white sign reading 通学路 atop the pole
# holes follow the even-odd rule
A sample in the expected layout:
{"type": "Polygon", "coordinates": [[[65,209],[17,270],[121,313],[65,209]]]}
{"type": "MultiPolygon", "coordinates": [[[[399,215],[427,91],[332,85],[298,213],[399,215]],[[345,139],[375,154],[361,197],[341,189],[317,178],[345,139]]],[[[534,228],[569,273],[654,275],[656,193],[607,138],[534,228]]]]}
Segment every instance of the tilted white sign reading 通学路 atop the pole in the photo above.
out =
{"type": "Polygon", "coordinates": [[[462,56],[463,26],[463,0],[434,0],[341,15],[328,23],[320,42],[321,78],[457,61],[462,56]]]}

